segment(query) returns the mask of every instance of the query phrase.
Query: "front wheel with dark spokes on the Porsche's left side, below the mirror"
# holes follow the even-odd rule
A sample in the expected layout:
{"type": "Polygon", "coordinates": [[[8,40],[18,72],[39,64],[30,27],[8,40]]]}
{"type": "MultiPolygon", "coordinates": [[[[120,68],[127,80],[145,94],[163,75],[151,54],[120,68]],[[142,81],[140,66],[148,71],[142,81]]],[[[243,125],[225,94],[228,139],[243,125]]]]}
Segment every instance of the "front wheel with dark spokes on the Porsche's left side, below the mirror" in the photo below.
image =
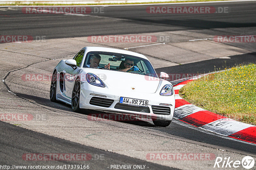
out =
{"type": "Polygon", "coordinates": [[[74,85],[74,88],[73,88],[73,91],[72,91],[72,98],[71,98],[71,108],[75,112],[80,112],[81,111],[80,106],[79,106],[79,103],[80,103],[80,88],[81,88],[80,80],[76,79],[75,85],[74,85]]]}

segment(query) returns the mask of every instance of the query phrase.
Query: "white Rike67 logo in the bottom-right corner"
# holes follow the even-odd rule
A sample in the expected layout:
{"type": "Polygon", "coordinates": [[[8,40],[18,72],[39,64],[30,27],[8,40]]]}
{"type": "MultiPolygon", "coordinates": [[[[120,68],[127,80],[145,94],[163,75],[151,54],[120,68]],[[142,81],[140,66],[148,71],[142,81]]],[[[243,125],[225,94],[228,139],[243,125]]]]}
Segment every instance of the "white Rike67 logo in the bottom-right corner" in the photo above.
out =
{"type": "Polygon", "coordinates": [[[240,160],[231,160],[230,157],[217,157],[214,163],[214,168],[238,168],[241,165],[245,169],[251,169],[254,166],[254,159],[251,156],[245,156],[242,161],[240,160]]]}

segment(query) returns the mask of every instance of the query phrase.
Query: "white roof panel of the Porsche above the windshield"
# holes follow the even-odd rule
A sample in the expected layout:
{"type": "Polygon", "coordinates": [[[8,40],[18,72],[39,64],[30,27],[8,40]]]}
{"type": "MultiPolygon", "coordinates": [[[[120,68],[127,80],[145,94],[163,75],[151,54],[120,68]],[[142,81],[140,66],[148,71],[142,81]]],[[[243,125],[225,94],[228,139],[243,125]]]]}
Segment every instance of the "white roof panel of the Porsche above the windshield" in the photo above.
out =
{"type": "Polygon", "coordinates": [[[140,58],[148,60],[148,58],[145,55],[135,53],[135,52],[132,52],[132,51],[116,49],[116,48],[87,46],[87,47],[84,47],[83,49],[86,51],[86,53],[88,53],[90,51],[103,51],[103,52],[111,52],[111,53],[121,53],[121,54],[133,55],[133,56],[140,57],[140,58]]]}

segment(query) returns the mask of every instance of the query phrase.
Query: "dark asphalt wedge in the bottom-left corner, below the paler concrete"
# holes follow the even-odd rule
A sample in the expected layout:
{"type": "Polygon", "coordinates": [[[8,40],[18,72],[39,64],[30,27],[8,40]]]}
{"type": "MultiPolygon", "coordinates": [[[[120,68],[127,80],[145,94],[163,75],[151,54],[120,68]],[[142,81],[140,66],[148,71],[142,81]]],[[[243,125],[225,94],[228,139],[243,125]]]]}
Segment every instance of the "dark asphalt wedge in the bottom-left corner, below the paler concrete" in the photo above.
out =
{"type": "MultiPolygon", "coordinates": [[[[134,159],[128,156],[106,152],[100,149],[95,149],[89,146],[77,144],[64,139],[55,138],[35,131],[29,131],[4,123],[0,121],[1,127],[1,146],[5,146],[1,149],[1,164],[12,166],[16,165],[28,165],[28,163],[20,159],[20,155],[24,153],[89,153],[92,155],[93,161],[88,160],[90,169],[107,169],[112,165],[146,165],[152,169],[167,170],[170,167],[161,166],[158,164],[146,162],[140,159],[134,159]],[[28,145],[29,144],[29,145],[28,145]],[[39,146],[39,148],[38,148],[39,146]],[[16,160],[15,160],[16,159],[16,160]],[[15,160],[15,161],[14,161],[15,160]]],[[[30,164],[31,162],[29,162],[30,164]]],[[[83,165],[86,165],[83,162],[83,165]]],[[[70,165],[70,161],[58,160],[58,161],[45,161],[43,165],[70,165]]],[[[81,165],[81,161],[72,161],[74,165],[81,165]]],[[[87,165],[88,165],[87,164],[87,165]]],[[[30,165],[38,165],[36,162],[30,165]]],[[[175,169],[175,168],[171,168],[175,169]]]]}

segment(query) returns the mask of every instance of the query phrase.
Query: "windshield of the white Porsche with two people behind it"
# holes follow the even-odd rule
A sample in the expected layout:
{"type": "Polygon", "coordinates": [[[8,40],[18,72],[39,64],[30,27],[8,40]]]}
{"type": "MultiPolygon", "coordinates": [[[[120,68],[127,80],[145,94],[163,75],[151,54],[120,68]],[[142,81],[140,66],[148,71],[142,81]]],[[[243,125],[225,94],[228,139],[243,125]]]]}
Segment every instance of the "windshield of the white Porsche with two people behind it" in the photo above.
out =
{"type": "Polygon", "coordinates": [[[108,65],[108,63],[110,63],[110,70],[124,72],[128,71],[130,73],[157,77],[157,74],[153,66],[150,64],[148,60],[121,53],[98,51],[89,52],[86,54],[83,67],[104,69],[104,66],[108,65]],[[133,66],[136,66],[138,68],[135,70],[132,69],[131,71],[130,68],[132,68],[133,66]]]}

